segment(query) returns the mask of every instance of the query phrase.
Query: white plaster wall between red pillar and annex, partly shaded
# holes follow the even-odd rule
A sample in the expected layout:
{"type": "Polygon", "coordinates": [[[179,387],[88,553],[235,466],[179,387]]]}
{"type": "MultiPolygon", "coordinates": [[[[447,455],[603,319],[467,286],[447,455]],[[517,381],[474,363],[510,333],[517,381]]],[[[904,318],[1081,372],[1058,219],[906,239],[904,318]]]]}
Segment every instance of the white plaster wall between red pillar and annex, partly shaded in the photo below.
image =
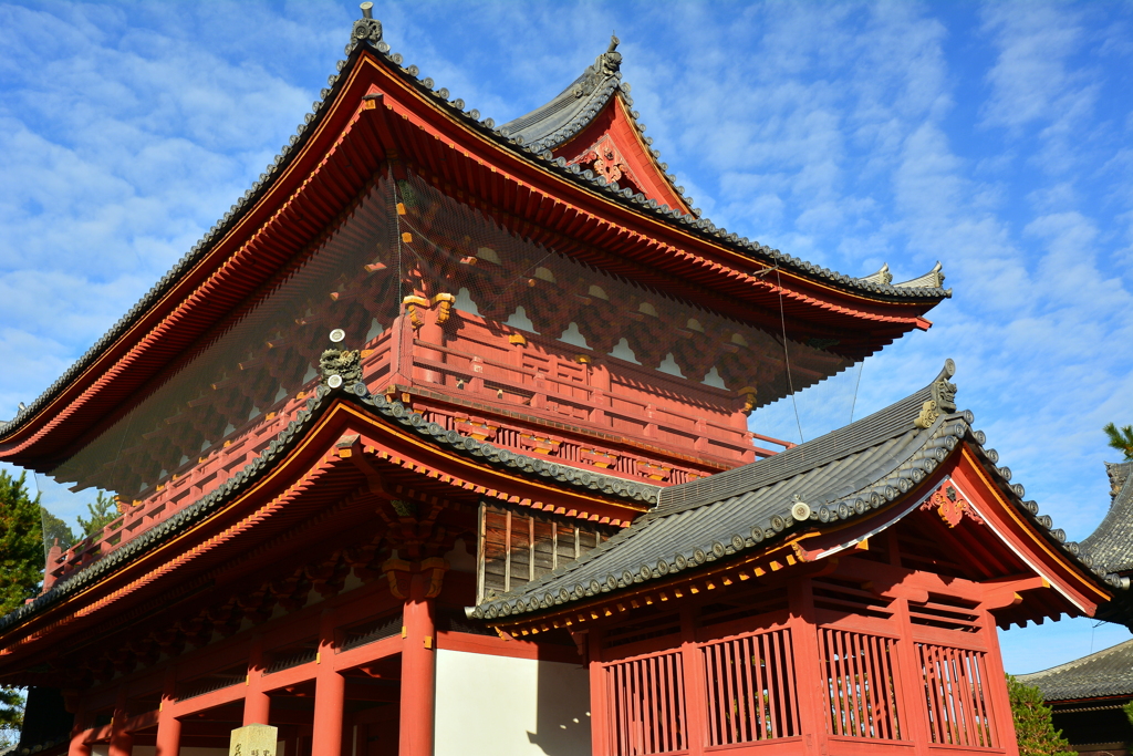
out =
{"type": "Polygon", "coordinates": [[[436,652],[435,756],[588,756],[580,664],[436,652]]]}

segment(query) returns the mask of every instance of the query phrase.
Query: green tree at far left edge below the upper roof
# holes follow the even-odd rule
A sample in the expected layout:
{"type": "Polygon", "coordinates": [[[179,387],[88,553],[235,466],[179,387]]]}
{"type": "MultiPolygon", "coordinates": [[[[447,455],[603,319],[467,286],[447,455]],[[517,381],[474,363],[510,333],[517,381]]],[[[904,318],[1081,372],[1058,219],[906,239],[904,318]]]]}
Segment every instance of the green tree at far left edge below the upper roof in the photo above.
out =
{"type": "Polygon", "coordinates": [[[40,498],[28,495],[26,477],[0,470],[0,615],[37,594],[43,579],[40,498]]]}

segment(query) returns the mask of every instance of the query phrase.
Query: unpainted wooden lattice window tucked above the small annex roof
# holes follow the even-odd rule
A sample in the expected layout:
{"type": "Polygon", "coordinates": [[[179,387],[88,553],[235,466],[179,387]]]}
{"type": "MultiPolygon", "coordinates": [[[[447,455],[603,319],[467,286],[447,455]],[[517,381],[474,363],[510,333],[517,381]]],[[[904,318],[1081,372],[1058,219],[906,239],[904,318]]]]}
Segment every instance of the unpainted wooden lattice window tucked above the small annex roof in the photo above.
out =
{"type": "Polygon", "coordinates": [[[477,602],[536,580],[613,535],[615,528],[482,503],[477,602]]]}

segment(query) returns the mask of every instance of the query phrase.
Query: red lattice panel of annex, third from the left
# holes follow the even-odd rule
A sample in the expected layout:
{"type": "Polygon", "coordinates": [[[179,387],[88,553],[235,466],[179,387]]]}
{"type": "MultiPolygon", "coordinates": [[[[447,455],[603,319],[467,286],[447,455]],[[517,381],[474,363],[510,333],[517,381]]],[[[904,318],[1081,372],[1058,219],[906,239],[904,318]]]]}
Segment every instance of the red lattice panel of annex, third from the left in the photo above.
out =
{"type": "Polygon", "coordinates": [[[818,644],[826,673],[829,732],[852,738],[900,740],[894,682],[897,642],[820,628],[818,644]]]}

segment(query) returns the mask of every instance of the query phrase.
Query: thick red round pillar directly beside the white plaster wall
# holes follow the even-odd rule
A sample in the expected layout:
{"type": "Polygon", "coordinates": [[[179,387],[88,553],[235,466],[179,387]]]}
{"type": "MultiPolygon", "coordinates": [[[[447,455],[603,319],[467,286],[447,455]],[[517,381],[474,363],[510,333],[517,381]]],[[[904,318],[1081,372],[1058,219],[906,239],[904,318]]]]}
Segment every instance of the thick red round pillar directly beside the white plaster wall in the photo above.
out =
{"type": "Polygon", "coordinates": [[[401,644],[401,721],[398,756],[433,756],[436,700],[436,626],[427,574],[416,572],[406,600],[401,644]]]}

